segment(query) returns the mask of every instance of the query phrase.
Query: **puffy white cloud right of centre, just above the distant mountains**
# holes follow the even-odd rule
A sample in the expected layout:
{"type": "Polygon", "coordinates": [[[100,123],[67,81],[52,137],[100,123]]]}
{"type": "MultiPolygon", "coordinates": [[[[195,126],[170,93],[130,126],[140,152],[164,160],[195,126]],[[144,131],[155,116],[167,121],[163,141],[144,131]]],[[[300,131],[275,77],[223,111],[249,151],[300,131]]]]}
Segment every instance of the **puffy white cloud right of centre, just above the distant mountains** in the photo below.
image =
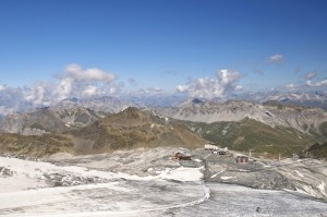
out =
{"type": "Polygon", "coordinates": [[[237,85],[241,74],[232,70],[220,70],[217,72],[216,79],[202,77],[190,80],[186,84],[178,85],[177,92],[187,93],[191,97],[213,98],[221,97],[227,92],[241,89],[242,86],[237,85]]]}

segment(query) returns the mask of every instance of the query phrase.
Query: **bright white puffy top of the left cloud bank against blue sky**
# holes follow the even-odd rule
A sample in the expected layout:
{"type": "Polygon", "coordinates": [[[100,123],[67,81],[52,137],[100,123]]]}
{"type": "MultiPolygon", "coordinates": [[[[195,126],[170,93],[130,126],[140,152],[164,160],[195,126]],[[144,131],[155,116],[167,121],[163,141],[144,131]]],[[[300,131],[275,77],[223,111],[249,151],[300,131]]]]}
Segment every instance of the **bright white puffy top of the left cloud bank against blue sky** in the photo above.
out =
{"type": "Polygon", "coordinates": [[[84,81],[104,81],[111,82],[114,80],[114,75],[110,73],[106,73],[102,70],[97,68],[89,68],[83,70],[78,64],[69,64],[65,68],[65,72],[70,77],[75,80],[84,80],[84,81]]]}

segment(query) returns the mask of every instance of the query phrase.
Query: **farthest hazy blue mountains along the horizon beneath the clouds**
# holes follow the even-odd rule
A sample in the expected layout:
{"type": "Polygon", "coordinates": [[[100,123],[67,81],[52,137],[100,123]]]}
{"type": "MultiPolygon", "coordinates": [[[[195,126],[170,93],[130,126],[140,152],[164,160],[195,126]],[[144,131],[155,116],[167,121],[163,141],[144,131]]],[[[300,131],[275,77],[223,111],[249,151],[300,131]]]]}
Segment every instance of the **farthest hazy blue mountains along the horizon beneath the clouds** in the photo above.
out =
{"type": "MultiPolygon", "coordinates": [[[[22,97],[21,97],[22,98],[22,97]]],[[[106,111],[106,112],[118,112],[123,108],[129,106],[134,106],[137,108],[169,108],[175,107],[187,97],[183,94],[141,94],[141,95],[119,95],[119,96],[101,96],[101,97],[90,97],[90,98],[66,98],[51,105],[46,105],[51,108],[73,108],[73,107],[85,107],[95,111],[106,111]]],[[[201,99],[203,100],[203,99],[201,99]]],[[[253,93],[241,93],[238,95],[228,95],[220,98],[211,98],[210,101],[222,103],[227,100],[242,100],[250,101],[254,104],[263,104],[268,100],[277,100],[280,104],[289,105],[294,104],[299,106],[310,106],[316,108],[323,108],[327,110],[327,92],[253,92],[253,93]]],[[[0,95],[0,121],[5,118],[5,116],[11,113],[22,113],[26,111],[32,111],[36,108],[41,108],[40,105],[33,105],[28,100],[14,100],[5,95],[0,95]]]]}

